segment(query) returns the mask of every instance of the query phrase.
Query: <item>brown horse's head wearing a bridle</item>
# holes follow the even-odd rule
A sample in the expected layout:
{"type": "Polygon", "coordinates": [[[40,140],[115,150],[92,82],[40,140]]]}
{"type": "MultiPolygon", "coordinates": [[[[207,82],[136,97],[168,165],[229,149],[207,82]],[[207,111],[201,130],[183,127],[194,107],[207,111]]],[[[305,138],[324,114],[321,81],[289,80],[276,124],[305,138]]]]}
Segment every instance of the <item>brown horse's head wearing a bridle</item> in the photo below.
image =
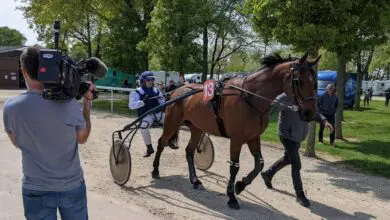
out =
{"type": "Polygon", "coordinates": [[[299,106],[301,119],[312,121],[317,111],[317,77],[314,66],[320,60],[307,61],[307,53],[299,60],[290,63],[290,70],[286,73],[286,83],[283,90],[299,106]]]}

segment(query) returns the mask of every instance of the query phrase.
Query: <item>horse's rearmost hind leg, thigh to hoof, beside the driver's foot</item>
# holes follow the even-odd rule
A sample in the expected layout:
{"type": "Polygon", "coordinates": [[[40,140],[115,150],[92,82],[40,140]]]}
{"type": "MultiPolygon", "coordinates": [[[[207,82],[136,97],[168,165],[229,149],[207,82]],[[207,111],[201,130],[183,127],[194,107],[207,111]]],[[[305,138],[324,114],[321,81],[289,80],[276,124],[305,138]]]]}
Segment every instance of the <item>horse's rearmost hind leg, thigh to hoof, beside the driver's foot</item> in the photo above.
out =
{"type": "Polygon", "coordinates": [[[168,145],[168,143],[176,142],[178,138],[179,129],[182,123],[182,116],[180,112],[180,108],[174,107],[171,111],[167,112],[164,119],[164,130],[161,137],[158,139],[157,152],[154,156],[153,161],[153,171],[152,178],[159,179],[160,178],[160,157],[162,152],[164,151],[164,147],[168,145]]]}

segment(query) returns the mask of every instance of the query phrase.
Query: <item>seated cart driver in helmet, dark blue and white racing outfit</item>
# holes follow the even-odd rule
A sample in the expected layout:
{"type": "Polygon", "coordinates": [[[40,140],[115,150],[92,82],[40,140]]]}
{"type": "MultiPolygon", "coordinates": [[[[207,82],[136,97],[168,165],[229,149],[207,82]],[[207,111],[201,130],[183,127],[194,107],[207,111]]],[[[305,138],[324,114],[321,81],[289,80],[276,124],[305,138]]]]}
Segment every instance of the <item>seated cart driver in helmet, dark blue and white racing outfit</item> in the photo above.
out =
{"type": "MultiPolygon", "coordinates": [[[[137,109],[138,117],[147,111],[165,103],[164,95],[153,85],[154,79],[153,72],[143,72],[140,79],[140,87],[130,93],[129,108],[137,109]]],[[[149,157],[154,153],[149,131],[149,128],[152,126],[153,122],[164,124],[164,113],[162,110],[159,112],[150,113],[142,119],[140,129],[142,138],[146,145],[146,153],[144,157],[149,157]]],[[[173,144],[169,144],[168,146],[172,149],[179,148],[173,144]]]]}

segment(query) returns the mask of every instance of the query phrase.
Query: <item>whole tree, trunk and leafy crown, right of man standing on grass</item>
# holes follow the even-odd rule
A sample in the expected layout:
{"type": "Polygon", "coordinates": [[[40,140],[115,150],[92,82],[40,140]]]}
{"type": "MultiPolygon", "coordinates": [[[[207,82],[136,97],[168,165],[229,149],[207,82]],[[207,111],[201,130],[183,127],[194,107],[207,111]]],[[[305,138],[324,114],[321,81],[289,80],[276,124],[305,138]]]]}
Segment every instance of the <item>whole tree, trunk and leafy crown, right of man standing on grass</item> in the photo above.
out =
{"type": "MultiPolygon", "coordinates": [[[[342,120],[344,111],[345,67],[356,51],[370,48],[386,41],[388,33],[389,3],[381,0],[336,1],[335,21],[339,23],[336,37],[327,42],[325,47],[337,54],[336,92],[339,105],[336,111],[336,138],[342,139],[342,120]],[[370,16],[367,16],[370,15],[370,16]]],[[[359,78],[361,81],[361,78],[359,78]]],[[[358,83],[361,86],[361,82],[358,83]]]]}

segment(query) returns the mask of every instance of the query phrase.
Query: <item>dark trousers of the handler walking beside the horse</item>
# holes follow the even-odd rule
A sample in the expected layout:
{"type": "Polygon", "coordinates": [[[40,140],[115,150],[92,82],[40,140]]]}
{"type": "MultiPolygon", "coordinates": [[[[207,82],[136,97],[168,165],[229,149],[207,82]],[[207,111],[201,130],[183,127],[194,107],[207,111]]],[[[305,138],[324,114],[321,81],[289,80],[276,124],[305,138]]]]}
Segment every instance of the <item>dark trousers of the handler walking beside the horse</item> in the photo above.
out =
{"type": "Polygon", "coordinates": [[[284,156],[277,160],[271,167],[266,171],[266,173],[272,177],[281,170],[283,167],[291,164],[291,177],[293,180],[293,185],[295,192],[302,192],[302,180],[301,180],[301,158],[299,157],[299,147],[300,143],[295,141],[279,137],[280,141],[284,146],[284,156]]]}

